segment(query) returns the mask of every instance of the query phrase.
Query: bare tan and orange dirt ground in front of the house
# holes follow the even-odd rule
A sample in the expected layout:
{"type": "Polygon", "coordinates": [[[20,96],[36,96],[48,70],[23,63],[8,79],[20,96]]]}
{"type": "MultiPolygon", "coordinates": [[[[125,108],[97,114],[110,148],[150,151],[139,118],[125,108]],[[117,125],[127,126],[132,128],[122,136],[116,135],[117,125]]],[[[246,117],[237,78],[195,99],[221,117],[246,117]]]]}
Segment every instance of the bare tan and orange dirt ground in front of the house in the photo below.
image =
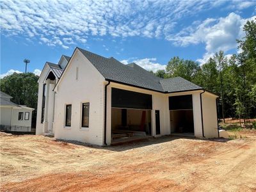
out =
{"type": "Polygon", "coordinates": [[[256,191],[255,136],[95,147],[1,133],[1,191],[256,191]]]}

